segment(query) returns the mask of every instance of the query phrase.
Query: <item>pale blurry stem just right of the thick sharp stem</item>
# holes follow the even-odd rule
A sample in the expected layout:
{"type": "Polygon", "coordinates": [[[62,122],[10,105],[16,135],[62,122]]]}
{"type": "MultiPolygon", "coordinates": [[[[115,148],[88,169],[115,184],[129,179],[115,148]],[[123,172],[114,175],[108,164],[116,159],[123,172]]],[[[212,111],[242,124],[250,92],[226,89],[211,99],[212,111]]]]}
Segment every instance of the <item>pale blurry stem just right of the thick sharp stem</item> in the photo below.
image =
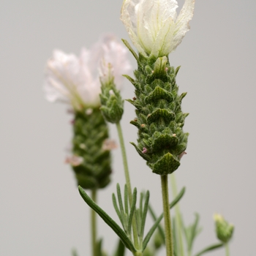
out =
{"type": "MultiPolygon", "coordinates": [[[[176,177],[175,177],[174,173],[172,173],[170,175],[170,184],[171,184],[172,191],[173,191],[173,197],[175,198],[178,195],[178,189],[177,189],[176,177]]],[[[181,254],[180,256],[184,256],[184,244],[183,244],[183,237],[182,237],[182,233],[181,233],[181,230],[182,230],[181,211],[180,211],[178,203],[176,203],[176,205],[174,206],[174,211],[175,211],[177,230],[178,230],[179,252],[181,254]]],[[[191,254],[191,253],[189,252],[189,254],[191,254]]]]}

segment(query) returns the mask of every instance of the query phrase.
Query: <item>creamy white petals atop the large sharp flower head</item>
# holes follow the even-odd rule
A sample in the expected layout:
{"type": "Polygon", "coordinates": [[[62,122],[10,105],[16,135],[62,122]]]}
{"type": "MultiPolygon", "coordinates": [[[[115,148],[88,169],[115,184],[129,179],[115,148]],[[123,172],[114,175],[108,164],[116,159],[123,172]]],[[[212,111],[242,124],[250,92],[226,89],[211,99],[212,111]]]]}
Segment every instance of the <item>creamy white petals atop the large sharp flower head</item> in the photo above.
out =
{"type": "Polygon", "coordinates": [[[185,0],[177,17],[176,0],[124,0],[121,20],[143,56],[167,56],[189,31],[195,0],[185,0]]]}

